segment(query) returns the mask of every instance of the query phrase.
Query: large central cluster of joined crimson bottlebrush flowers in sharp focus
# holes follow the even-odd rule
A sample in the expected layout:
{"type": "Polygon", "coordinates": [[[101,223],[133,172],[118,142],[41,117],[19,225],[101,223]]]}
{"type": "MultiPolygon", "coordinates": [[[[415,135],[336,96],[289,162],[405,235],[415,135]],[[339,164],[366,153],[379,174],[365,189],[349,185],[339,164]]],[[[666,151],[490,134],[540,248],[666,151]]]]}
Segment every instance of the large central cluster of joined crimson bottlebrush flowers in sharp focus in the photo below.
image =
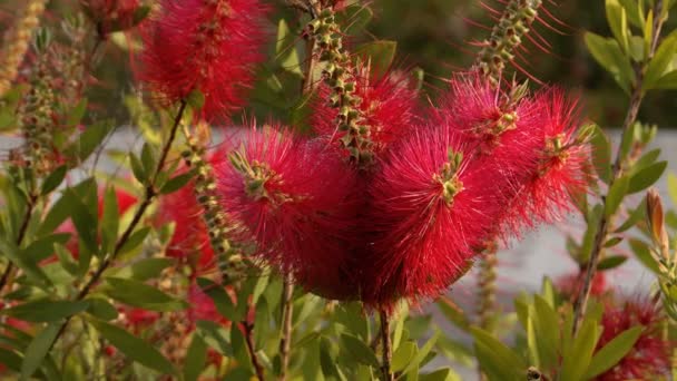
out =
{"type": "Polygon", "coordinates": [[[511,101],[469,74],[420,115],[395,76],[364,80],[373,163],[347,158],[321,100],[316,137],[253,129],[217,165],[238,240],[308,291],[385,309],[435,297],[489,244],[557,219],[586,192],[581,119],[562,90],[511,101]]]}

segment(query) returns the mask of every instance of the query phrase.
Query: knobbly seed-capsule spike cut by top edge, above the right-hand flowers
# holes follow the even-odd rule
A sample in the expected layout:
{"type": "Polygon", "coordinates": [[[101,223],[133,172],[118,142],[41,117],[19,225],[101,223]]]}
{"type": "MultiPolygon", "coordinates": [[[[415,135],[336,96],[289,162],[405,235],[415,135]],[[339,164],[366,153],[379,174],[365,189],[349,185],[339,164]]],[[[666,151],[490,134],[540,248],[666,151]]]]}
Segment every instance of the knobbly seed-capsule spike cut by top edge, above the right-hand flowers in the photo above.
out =
{"type": "Polygon", "coordinates": [[[477,66],[493,86],[498,86],[506,62],[514,58],[513,51],[529,32],[541,3],[541,0],[510,1],[501,19],[491,30],[491,36],[483,41],[477,66]]]}

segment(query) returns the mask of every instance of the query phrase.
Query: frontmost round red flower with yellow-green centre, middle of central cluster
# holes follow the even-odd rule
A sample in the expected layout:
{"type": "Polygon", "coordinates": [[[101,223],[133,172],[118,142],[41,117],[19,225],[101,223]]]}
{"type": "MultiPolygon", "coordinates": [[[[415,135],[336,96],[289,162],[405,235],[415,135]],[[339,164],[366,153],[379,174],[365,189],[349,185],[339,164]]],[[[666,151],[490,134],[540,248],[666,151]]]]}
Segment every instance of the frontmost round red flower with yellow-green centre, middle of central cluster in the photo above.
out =
{"type": "Polygon", "coordinates": [[[366,214],[373,247],[361,261],[367,304],[435,297],[469,268],[502,206],[496,168],[472,156],[462,135],[435,124],[381,160],[366,214]]]}

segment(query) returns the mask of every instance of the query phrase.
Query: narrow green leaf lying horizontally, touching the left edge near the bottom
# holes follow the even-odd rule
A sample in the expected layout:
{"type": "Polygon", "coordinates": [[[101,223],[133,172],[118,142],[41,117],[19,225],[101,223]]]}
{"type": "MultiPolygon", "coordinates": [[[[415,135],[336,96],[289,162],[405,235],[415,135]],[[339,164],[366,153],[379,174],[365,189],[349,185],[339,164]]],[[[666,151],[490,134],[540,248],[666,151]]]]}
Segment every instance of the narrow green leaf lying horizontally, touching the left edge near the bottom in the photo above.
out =
{"type": "Polygon", "coordinates": [[[69,302],[38,300],[26,302],[11,309],[0,311],[0,315],[8,315],[33,323],[58,322],[87,310],[89,302],[69,302]]]}

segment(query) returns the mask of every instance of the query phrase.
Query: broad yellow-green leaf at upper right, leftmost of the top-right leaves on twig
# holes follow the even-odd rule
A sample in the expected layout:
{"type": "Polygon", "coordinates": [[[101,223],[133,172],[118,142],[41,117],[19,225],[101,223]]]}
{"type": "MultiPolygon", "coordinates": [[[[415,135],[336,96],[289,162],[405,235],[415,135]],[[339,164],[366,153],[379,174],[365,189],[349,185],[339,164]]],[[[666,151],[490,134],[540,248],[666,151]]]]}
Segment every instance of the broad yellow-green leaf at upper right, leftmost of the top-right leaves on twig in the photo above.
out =
{"type": "Polygon", "coordinates": [[[595,60],[609,71],[620,88],[629,92],[635,75],[628,58],[620,50],[618,42],[592,32],[586,32],[585,41],[595,60]]]}

